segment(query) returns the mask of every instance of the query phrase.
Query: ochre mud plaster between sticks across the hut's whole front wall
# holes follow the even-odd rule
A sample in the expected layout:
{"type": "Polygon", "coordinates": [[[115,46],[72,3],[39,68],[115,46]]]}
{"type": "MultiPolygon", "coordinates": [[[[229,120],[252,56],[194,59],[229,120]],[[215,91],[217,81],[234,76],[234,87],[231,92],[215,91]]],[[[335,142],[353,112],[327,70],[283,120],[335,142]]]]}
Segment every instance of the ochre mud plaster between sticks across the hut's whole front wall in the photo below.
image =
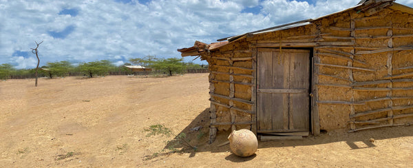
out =
{"type": "MultiPolygon", "coordinates": [[[[393,90],[393,91],[360,91],[353,90],[352,83],[361,83],[369,81],[383,81],[387,80],[388,76],[388,61],[389,55],[392,55],[391,62],[391,75],[413,73],[413,50],[402,51],[390,51],[390,52],[377,52],[374,54],[357,54],[357,52],[366,52],[372,50],[379,50],[385,48],[399,48],[413,46],[413,38],[409,36],[413,34],[413,16],[412,14],[403,13],[400,11],[394,11],[385,9],[372,16],[366,16],[363,12],[348,11],[339,14],[326,17],[314,21],[310,25],[304,25],[297,28],[290,28],[287,30],[279,30],[276,32],[266,32],[262,34],[255,34],[253,37],[248,37],[248,40],[242,39],[240,41],[233,42],[229,45],[216,50],[212,53],[212,56],[226,57],[226,58],[240,58],[249,57],[251,53],[235,52],[237,50],[248,50],[248,45],[251,41],[273,41],[273,43],[283,42],[301,42],[301,41],[323,41],[323,42],[352,42],[354,41],[354,48],[341,47],[341,46],[323,46],[315,47],[313,52],[314,56],[319,58],[319,63],[330,65],[348,66],[349,61],[346,59],[338,59],[331,56],[325,56],[323,53],[337,54],[340,56],[350,57],[352,50],[354,50],[354,60],[361,61],[363,63],[352,62],[352,67],[361,67],[366,70],[351,70],[339,67],[319,66],[318,81],[316,83],[318,89],[317,101],[340,101],[340,102],[362,102],[366,101],[362,105],[349,105],[349,104],[328,104],[318,103],[319,117],[320,117],[320,129],[326,129],[327,131],[333,129],[350,129],[348,122],[350,121],[350,112],[354,110],[355,114],[368,112],[377,109],[389,108],[397,106],[409,106],[413,103],[413,91],[412,90],[393,90]],[[354,31],[355,39],[337,39],[339,37],[351,37],[350,31],[337,30],[337,28],[350,28],[351,21],[354,21],[355,28],[373,28],[369,30],[356,30],[354,31]],[[319,26],[317,26],[319,25],[319,26]],[[378,27],[393,27],[378,28],[378,27]],[[396,29],[405,28],[405,29],[396,29]],[[391,31],[390,31],[391,30],[391,31]],[[315,36],[317,35],[318,36],[315,36]],[[385,38],[383,36],[389,36],[393,34],[393,38],[385,38]],[[379,37],[379,38],[376,38],[379,37]],[[317,39],[318,38],[318,39],[317,39]],[[320,39],[321,38],[321,39],[320,39]],[[277,42],[278,41],[278,42],[277,42]],[[232,52],[231,52],[232,51],[232,52]],[[408,68],[407,68],[408,67],[408,68]],[[403,69],[400,69],[403,68],[403,69]],[[350,81],[350,75],[352,74],[353,81],[350,81]],[[323,85],[326,84],[326,85],[323,85]],[[341,86],[328,86],[328,84],[341,85],[341,86]],[[343,87],[348,86],[348,87],[343,87]],[[404,97],[401,99],[372,101],[377,98],[392,97],[404,97]],[[406,98],[412,97],[412,98],[406,98]]],[[[268,42],[269,43],[269,42],[268,42]]],[[[210,70],[216,72],[226,72],[233,74],[247,74],[251,75],[253,72],[249,70],[232,69],[228,67],[214,67],[213,65],[231,66],[229,61],[222,61],[217,59],[208,59],[210,70]]],[[[252,68],[252,61],[234,61],[232,66],[252,68]]],[[[313,74],[316,75],[316,74],[313,74]]],[[[211,80],[229,81],[229,74],[215,74],[211,80]]],[[[252,83],[252,78],[244,76],[233,76],[235,82],[252,83]]],[[[400,79],[400,78],[399,78],[400,79]]],[[[403,76],[403,79],[413,79],[413,75],[403,76]]],[[[215,94],[229,95],[229,83],[214,83],[215,94]]],[[[235,98],[242,98],[245,100],[251,100],[251,86],[237,85],[235,84],[235,98]]],[[[357,87],[366,88],[388,88],[388,87],[413,87],[412,82],[402,83],[381,83],[374,85],[358,85],[357,87]]],[[[215,100],[229,103],[228,100],[224,101],[224,98],[215,98],[215,100]]],[[[235,103],[236,107],[240,109],[251,110],[251,105],[246,103],[235,103]]],[[[412,114],[412,109],[393,110],[393,115],[412,114]]],[[[217,116],[220,116],[220,120],[217,118],[217,122],[230,122],[231,115],[229,109],[217,106],[217,116]],[[219,113],[219,114],[218,114],[219,113]]],[[[354,120],[374,120],[377,118],[388,117],[388,112],[379,112],[371,115],[360,116],[354,120]]],[[[237,112],[235,120],[246,121],[251,120],[248,114],[237,112]]],[[[412,122],[413,117],[408,118],[396,118],[394,123],[406,123],[412,122]]],[[[381,121],[380,125],[388,124],[388,120],[381,121]]],[[[357,125],[356,128],[369,127],[370,125],[357,125]]],[[[244,125],[237,126],[246,127],[244,125]]],[[[248,126],[249,127],[249,126],[248,126]]],[[[219,130],[230,129],[229,125],[218,126],[219,130]]]]}

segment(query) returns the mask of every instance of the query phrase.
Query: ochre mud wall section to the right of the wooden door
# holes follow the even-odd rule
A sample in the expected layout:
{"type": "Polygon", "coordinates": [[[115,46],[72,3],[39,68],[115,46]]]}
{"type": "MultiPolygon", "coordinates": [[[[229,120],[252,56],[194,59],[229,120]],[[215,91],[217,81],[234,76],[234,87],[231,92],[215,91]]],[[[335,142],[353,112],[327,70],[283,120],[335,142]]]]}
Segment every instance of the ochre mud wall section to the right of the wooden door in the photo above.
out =
{"type": "MultiPolygon", "coordinates": [[[[355,21],[355,28],[366,28],[366,27],[398,27],[398,28],[412,28],[412,20],[406,19],[412,18],[410,14],[401,13],[398,11],[392,10],[383,10],[371,18],[375,19],[357,19],[366,17],[361,12],[359,14],[350,13],[343,14],[340,17],[335,16],[321,19],[321,34],[329,34],[328,36],[350,36],[350,32],[333,30],[332,28],[326,28],[324,25],[329,25],[336,28],[350,28],[350,18],[355,21]],[[403,26],[402,26],[403,25],[403,26]]],[[[412,29],[413,30],[413,29],[412,29]]],[[[405,35],[413,34],[412,30],[397,30],[392,29],[393,35],[405,35]]],[[[405,47],[413,45],[413,38],[408,37],[396,37],[385,39],[374,39],[377,36],[388,36],[389,29],[370,29],[370,30],[357,30],[354,32],[354,36],[358,37],[355,39],[355,50],[357,53],[359,51],[366,50],[378,50],[389,47],[405,47]],[[370,37],[370,39],[369,39],[370,37]]],[[[348,40],[337,40],[337,39],[326,39],[326,41],[348,41],[348,40]]],[[[320,63],[331,64],[331,65],[348,65],[348,61],[343,59],[332,58],[329,56],[324,56],[322,53],[350,53],[352,48],[319,48],[315,49],[315,56],[319,56],[320,63]]],[[[391,52],[392,54],[392,75],[394,74],[405,74],[413,72],[412,68],[399,70],[399,67],[410,67],[413,66],[413,53],[412,50],[391,52]]],[[[341,54],[342,55],[342,54],[341,54]]],[[[342,55],[344,56],[344,55],[342,55]]],[[[362,67],[374,72],[368,72],[363,70],[346,70],[337,67],[319,67],[320,74],[326,74],[328,76],[318,76],[318,83],[320,84],[318,88],[318,101],[343,101],[343,102],[354,102],[372,100],[377,98],[385,98],[388,95],[391,96],[413,96],[412,90],[403,90],[403,91],[358,91],[352,90],[349,88],[351,86],[350,82],[350,71],[354,78],[354,83],[367,82],[367,81],[381,81],[385,80],[385,76],[388,76],[388,59],[389,52],[379,52],[374,54],[356,54],[354,55],[354,60],[362,61],[366,64],[353,62],[353,67],[362,67]],[[330,76],[337,76],[338,78],[332,78],[330,76]],[[348,79],[348,80],[346,80],[348,79]],[[348,85],[349,87],[334,87],[334,86],[324,86],[322,84],[337,84],[337,85],[348,85]]],[[[404,78],[413,78],[412,76],[407,76],[404,78]]],[[[412,82],[407,83],[392,83],[392,87],[410,87],[412,82]]],[[[387,88],[390,87],[389,83],[376,84],[376,85],[361,85],[358,87],[368,87],[368,88],[387,88]]],[[[386,109],[392,106],[406,106],[413,103],[412,98],[403,98],[400,100],[383,100],[383,101],[371,101],[366,102],[364,105],[331,105],[331,104],[322,104],[318,105],[319,116],[320,116],[320,127],[321,129],[332,130],[339,128],[349,129],[347,124],[350,118],[350,110],[354,109],[355,114],[361,112],[369,112],[377,109],[386,109]]],[[[399,114],[412,114],[412,109],[403,109],[403,110],[394,110],[393,115],[399,114]]],[[[388,112],[379,112],[366,116],[357,117],[356,120],[374,120],[379,118],[388,117],[388,112]]],[[[412,118],[398,118],[394,119],[394,124],[396,123],[405,123],[407,121],[412,121],[412,118]]],[[[381,122],[380,125],[388,124],[388,120],[381,122]]],[[[369,127],[369,125],[357,125],[357,128],[369,127]]]]}

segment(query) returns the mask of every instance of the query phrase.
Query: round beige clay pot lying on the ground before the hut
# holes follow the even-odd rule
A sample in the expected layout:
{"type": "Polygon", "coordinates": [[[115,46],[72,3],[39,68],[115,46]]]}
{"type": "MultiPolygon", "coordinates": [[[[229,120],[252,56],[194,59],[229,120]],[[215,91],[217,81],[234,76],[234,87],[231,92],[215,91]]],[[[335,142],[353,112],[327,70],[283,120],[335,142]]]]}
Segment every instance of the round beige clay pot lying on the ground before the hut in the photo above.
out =
{"type": "Polygon", "coordinates": [[[248,157],[257,151],[257,136],[248,129],[233,130],[228,139],[231,150],[237,156],[248,157]]]}

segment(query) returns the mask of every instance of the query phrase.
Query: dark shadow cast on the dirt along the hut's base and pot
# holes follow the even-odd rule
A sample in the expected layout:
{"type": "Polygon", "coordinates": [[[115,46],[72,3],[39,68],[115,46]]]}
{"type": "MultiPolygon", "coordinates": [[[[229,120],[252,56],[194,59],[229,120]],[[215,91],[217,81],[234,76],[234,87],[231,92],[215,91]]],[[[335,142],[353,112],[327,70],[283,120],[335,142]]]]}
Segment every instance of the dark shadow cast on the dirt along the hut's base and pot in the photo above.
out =
{"type": "MultiPolygon", "coordinates": [[[[209,144],[209,108],[204,109],[193,121],[185,127],[180,134],[185,134],[187,141],[196,147],[196,150],[190,147],[184,147],[184,145],[176,145],[176,148],[184,148],[182,152],[190,153],[189,157],[195,156],[196,152],[231,152],[229,145],[222,145],[227,141],[227,137],[230,132],[218,132],[217,138],[212,144],[209,144]],[[202,127],[197,130],[198,127],[202,127]]],[[[290,141],[268,141],[258,142],[258,149],[267,147],[295,147],[305,145],[319,145],[335,142],[346,142],[351,149],[364,149],[368,147],[375,147],[374,140],[398,138],[403,136],[413,136],[413,127],[399,126],[399,127],[383,127],[379,129],[370,129],[360,132],[348,133],[346,130],[338,130],[336,132],[323,132],[319,136],[308,136],[303,140],[290,140],[290,141]]],[[[169,143],[165,146],[167,149],[171,145],[169,143]]],[[[226,160],[233,162],[244,162],[255,158],[250,156],[248,158],[240,158],[231,154],[226,157],[226,160]]]]}

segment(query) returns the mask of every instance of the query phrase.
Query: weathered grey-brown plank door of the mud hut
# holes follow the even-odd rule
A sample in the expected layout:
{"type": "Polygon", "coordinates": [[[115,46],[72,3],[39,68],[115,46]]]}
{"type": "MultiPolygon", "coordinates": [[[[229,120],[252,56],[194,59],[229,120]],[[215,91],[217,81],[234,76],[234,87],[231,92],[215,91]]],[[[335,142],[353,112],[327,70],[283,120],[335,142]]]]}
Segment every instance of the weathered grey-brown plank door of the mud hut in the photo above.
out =
{"type": "Polygon", "coordinates": [[[310,51],[258,49],[257,132],[308,132],[310,51]]]}

